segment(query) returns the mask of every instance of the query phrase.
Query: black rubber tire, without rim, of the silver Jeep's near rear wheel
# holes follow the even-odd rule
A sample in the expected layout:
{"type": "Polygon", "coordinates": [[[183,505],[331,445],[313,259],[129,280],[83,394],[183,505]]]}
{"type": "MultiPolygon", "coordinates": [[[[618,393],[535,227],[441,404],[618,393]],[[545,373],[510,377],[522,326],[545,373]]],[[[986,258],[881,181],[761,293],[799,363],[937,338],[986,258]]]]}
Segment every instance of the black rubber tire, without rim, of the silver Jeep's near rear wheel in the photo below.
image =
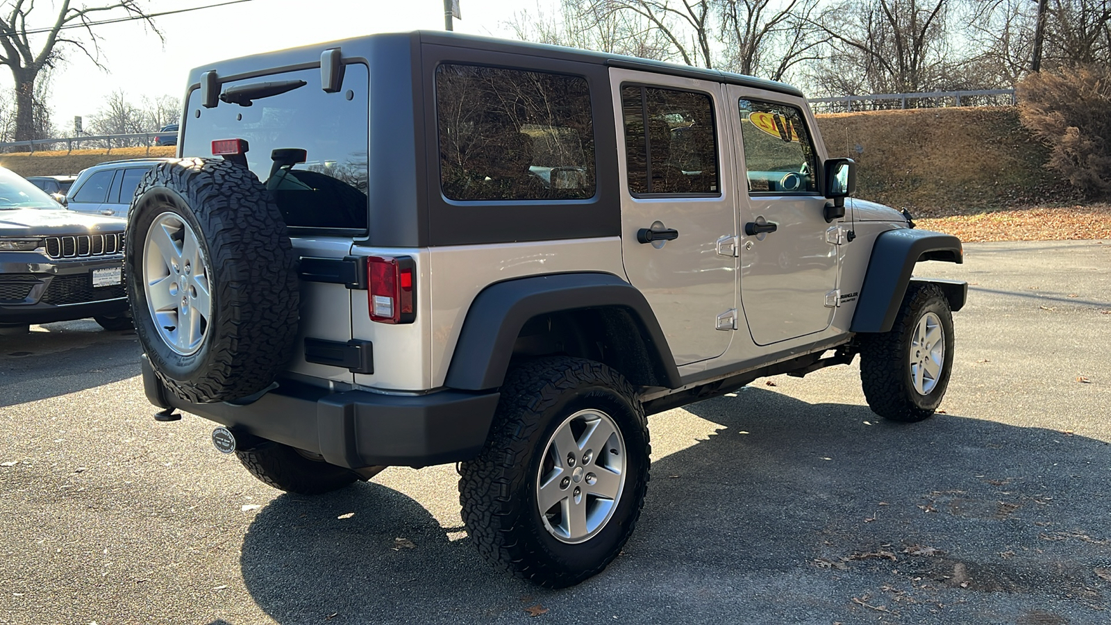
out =
{"type": "Polygon", "coordinates": [[[598,574],[632,534],[649,479],[648,425],[635,390],[618,371],[582,358],[549,357],[517,366],[481,455],[462,463],[459,500],[463,523],[481,556],[540,586],[571,586],[598,574]],[[625,445],[627,482],[613,515],[582,543],[558,540],[537,505],[544,446],[578,410],[603,410],[625,445]]]}

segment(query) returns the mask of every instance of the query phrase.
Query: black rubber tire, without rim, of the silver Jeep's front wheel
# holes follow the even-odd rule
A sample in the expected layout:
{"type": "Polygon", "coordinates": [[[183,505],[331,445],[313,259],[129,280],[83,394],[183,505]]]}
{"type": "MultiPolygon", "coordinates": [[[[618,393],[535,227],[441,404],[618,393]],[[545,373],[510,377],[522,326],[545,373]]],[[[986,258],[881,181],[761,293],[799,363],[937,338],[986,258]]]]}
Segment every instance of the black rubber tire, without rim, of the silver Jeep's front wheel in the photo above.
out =
{"type": "Polygon", "coordinates": [[[902,423],[933,415],[945,395],[953,365],[953,316],[941,289],[911,282],[891,330],[861,337],[860,381],[872,411],[902,423]],[[910,350],[919,321],[930,312],[940,320],[944,354],[937,383],[922,395],[914,388],[910,350]]]}

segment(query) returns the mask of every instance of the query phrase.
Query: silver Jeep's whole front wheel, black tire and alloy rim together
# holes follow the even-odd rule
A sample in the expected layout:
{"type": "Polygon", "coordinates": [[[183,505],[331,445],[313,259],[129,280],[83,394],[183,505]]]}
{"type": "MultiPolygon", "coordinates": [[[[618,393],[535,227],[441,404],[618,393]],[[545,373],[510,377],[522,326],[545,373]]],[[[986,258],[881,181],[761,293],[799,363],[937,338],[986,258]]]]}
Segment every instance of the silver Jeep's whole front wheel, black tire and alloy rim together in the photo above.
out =
{"type": "Polygon", "coordinates": [[[933,415],[953,365],[953,316],[934,285],[912,282],[890,331],[861,341],[860,380],[868,406],[895,421],[933,415]]]}

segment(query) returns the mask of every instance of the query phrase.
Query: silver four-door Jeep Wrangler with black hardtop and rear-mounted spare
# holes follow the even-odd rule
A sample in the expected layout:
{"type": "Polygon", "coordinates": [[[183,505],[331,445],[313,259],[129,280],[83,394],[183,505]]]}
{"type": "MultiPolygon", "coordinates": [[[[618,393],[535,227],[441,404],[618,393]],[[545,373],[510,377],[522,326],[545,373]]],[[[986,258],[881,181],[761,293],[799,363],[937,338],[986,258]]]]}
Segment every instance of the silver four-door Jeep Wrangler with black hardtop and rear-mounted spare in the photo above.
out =
{"type": "Polygon", "coordinates": [[[482,556],[549,587],[640,515],[645,415],[861,355],[879,415],[929,417],[961,242],[847,200],[797,89],[444,32],[189,77],[179,160],[131,207],[160,419],[222,424],[312,494],[460,463],[482,556]]]}

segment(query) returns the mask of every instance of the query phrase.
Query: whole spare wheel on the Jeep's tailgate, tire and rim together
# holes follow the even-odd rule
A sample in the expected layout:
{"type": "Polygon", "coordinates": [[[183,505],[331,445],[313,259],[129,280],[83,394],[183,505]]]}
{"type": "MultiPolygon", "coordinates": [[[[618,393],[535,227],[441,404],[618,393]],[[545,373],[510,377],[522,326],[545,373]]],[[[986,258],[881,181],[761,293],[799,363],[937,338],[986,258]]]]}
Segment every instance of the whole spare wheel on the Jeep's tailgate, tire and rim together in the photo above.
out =
{"type": "Polygon", "coordinates": [[[246,167],[156,166],[136,190],[126,262],[136,334],[178,397],[252,395],[292,355],[297,258],[277,205],[246,167]]]}

